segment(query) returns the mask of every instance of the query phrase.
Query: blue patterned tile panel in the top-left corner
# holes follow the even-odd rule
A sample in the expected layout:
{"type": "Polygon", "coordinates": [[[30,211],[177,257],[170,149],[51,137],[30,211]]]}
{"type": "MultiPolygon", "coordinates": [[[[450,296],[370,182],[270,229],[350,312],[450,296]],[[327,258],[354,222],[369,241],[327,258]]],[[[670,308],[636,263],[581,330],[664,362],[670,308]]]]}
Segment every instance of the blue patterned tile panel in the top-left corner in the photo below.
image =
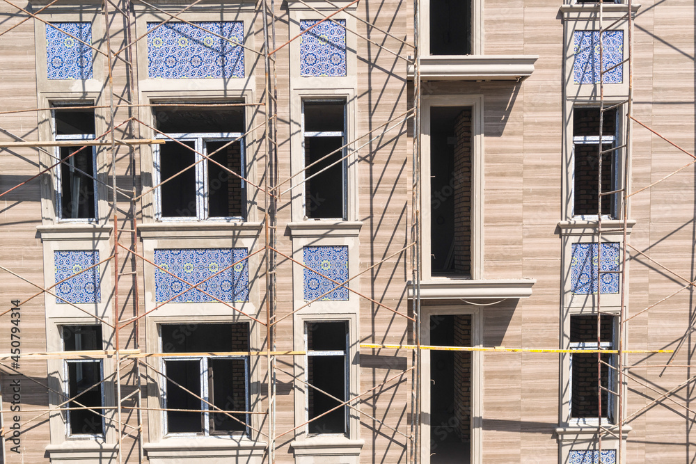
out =
{"type": "Polygon", "coordinates": [[[46,24],[46,64],[49,80],[93,78],[92,49],[74,38],[92,45],[92,23],[46,24]]]}

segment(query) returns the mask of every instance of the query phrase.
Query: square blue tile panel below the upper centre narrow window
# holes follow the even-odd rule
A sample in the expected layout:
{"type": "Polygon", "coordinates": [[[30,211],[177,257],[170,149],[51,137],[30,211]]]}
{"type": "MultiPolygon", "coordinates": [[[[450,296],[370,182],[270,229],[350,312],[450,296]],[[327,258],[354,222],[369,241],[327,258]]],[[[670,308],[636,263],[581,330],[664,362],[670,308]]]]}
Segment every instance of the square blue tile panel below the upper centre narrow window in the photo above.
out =
{"type": "Polygon", "coordinates": [[[348,289],[345,287],[324,294],[336,286],[329,279],[340,283],[348,280],[348,247],[306,246],[303,252],[304,264],[311,269],[304,269],[305,300],[310,301],[321,296],[321,301],[347,301],[348,289]],[[317,273],[326,275],[329,279],[317,273]]]}

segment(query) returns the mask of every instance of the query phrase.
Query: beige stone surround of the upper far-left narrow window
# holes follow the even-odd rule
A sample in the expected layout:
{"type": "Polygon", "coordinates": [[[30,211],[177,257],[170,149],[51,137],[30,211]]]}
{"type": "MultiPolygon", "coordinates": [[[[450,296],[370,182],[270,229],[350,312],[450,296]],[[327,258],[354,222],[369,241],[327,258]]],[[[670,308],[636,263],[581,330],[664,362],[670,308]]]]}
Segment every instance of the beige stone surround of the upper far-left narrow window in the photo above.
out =
{"type": "MultiPolygon", "coordinates": [[[[45,39],[44,39],[45,41],[45,39]]],[[[96,72],[96,70],[95,70],[96,72]]],[[[47,81],[49,83],[61,81],[47,81]]],[[[97,84],[96,86],[90,85],[90,87],[98,87],[99,83],[89,81],[90,84],[97,84]]],[[[50,87],[51,84],[48,85],[50,87]]],[[[60,87],[60,85],[56,86],[60,87]]],[[[51,108],[52,104],[88,104],[90,106],[100,106],[102,104],[101,99],[102,93],[100,89],[90,90],[90,91],[54,91],[46,90],[40,91],[38,95],[38,107],[39,108],[51,108]]],[[[95,117],[95,136],[100,138],[101,134],[106,131],[106,113],[102,108],[94,109],[95,117]]],[[[38,138],[40,141],[54,141],[54,117],[51,110],[37,111],[38,117],[38,138]]],[[[75,141],[75,145],[79,145],[79,141],[75,141]]],[[[86,148],[85,150],[90,150],[86,148]]],[[[55,147],[45,147],[39,148],[39,161],[41,168],[48,168],[53,166],[58,162],[58,157],[60,154],[58,149],[55,147]],[[50,153],[50,154],[49,154],[50,153]]],[[[109,188],[106,186],[109,184],[108,171],[111,167],[111,156],[110,152],[106,150],[106,147],[95,147],[95,172],[97,173],[96,179],[100,182],[96,182],[95,196],[97,198],[95,219],[61,219],[60,211],[58,211],[58,182],[59,175],[58,170],[61,169],[62,164],[59,164],[54,169],[51,170],[50,174],[45,174],[42,176],[43,182],[41,184],[41,209],[42,218],[44,224],[68,224],[68,223],[81,223],[81,224],[104,224],[109,221],[109,202],[106,198],[109,198],[109,188]]]]}

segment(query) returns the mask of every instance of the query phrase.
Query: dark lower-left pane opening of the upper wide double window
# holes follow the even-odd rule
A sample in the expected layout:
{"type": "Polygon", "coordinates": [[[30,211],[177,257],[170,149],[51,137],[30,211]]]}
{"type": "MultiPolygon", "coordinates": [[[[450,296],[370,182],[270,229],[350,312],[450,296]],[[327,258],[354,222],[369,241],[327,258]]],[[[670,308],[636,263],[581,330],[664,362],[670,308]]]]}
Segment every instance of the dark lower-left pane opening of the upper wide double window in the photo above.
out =
{"type": "MultiPolygon", "coordinates": [[[[191,148],[194,145],[192,141],[182,143],[191,148]]],[[[160,187],[162,216],[168,218],[196,217],[196,170],[189,167],[195,157],[187,147],[167,142],[159,148],[160,176],[166,181],[160,187]]]]}

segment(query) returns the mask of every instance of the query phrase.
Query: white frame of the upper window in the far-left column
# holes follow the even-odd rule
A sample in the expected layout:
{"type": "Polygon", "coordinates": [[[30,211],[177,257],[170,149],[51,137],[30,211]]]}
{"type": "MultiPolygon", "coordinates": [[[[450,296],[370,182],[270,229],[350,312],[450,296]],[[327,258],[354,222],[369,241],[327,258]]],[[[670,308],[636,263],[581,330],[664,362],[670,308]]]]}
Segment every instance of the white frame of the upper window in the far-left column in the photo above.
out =
{"type": "MultiPolygon", "coordinates": [[[[51,108],[51,130],[53,133],[53,138],[54,141],[59,142],[59,141],[76,141],[75,146],[80,146],[79,142],[80,141],[93,141],[96,138],[96,134],[57,134],[57,127],[56,127],[56,110],[60,110],[62,106],[80,106],[82,104],[85,104],[86,106],[91,106],[93,105],[92,102],[75,102],[70,103],[70,102],[61,102],[61,104],[58,104],[56,106],[52,106],[51,108]]],[[[95,121],[96,125],[96,121],[95,121]]],[[[95,126],[96,129],[96,126],[95,126]]],[[[93,179],[92,179],[92,184],[93,184],[93,189],[94,189],[94,217],[93,218],[64,218],[63,217],[63,182],[62,182],[62,174],[61,170],[63,169],[63,164],[62,161],[63,158],[61,157],[61,147],[56,147],[54,149],[54,154],[56,156],[55,163],[58,163],[58,166],[55,168],[55,173],[56,173],[56,218],[58,218],[59,221],[61,222],[73,222],[73,223],[96,223],[97,218],[99,217],[99,189],[97,188],[97,147],[86,147],[84,151],[86,150],[91,150],[92,151],[92,173],[87,173],[90,174],[93,179]]],[[[54,164],[54,163],[52,163],[54,164]]],[[[74,157],[70,157],[68,159],[68,164],[70,165],[71,169],[74,169],[74,157]]]]}

